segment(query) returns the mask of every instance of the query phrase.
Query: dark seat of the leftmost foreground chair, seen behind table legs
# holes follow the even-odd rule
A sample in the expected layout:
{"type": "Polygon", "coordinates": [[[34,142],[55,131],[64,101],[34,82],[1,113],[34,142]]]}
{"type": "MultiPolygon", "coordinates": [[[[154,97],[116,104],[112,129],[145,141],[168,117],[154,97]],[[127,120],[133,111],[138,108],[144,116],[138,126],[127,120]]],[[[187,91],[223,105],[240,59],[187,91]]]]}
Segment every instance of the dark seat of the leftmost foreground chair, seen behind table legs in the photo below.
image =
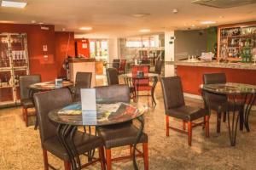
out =
{"type": "MultiPolygon", "coordinates": [[[[75,134],[73,141],[79,155],[86,151],[103,146],[101,138],[81,132],[77,132],[75,134]]],[[[62,160],[69,160],[67,151],[56,136],[44,141],[44,149],[48,150],[50,153],[61,158],[62,160]]]]}

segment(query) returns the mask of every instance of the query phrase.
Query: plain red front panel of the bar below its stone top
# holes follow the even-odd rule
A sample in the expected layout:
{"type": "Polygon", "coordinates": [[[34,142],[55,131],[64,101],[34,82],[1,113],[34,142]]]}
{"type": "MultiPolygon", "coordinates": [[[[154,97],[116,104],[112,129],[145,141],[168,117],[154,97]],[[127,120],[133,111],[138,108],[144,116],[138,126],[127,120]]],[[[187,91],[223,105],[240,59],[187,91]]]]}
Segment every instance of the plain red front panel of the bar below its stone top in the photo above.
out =
{"type": "Polygon", "coordinates": [[[200,85],[203,83],[203,74],[214,72],[224,72],[227,77],[227,82],[240,82],[256,85],[255,70],[177,65],[177,76],[182,79],[183,92],[188,94],[201,95],[200,85]]]}

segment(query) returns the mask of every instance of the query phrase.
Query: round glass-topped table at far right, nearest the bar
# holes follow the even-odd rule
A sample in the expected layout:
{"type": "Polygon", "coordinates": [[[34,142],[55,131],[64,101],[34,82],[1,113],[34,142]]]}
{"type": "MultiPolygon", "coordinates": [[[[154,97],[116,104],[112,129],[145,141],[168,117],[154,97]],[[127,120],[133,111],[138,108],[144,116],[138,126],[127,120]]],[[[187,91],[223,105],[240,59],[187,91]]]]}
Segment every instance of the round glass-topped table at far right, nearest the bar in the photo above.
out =
{"type": "Polygon", "coordinates": [[[207,93],[209,92],[213,94],[225,94],[232,101],[231,112],[233,116],[231,117],[230,124],[230,112],[228,112],[228,123],[229,123],[229,133],[230,133],[230,144],[232,146],[236,145],[236,129],[237,122],[240,118],[241,121],[241,130],[243,125],[246,127],[247,132],[250,131],[249,127],[249,114],[252,109],[252,105],[256,99],[256,86],[242,83],[220,83],[220,84],[207,84],[202,86],[203,89],[203,97],[206,99],[207,107],[211,108],[211,103],[207,99],[207,93]],[[236,108],[238,105],[241,105],[242,115],[236,116],[236,108]],[[236,120],[235,120],[236,118],[236,120]]]}

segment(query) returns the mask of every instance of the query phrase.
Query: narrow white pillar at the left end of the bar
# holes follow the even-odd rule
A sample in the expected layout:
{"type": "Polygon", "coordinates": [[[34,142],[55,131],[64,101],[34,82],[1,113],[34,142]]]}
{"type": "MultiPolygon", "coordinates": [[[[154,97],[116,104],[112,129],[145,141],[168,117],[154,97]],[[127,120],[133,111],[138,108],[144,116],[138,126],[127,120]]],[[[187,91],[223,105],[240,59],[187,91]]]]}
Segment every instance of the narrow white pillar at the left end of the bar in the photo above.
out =
{"type": "MultiPolygon", "coordinates": [[[[165,61],[174,61],[174,45],[175,40],[171,40],[174,37],[174,31],[165,31],[165,61]],[[170,41],[173,43],[170,44],[170,41]]],[[[165,65],[165,77],[175,76],[174,65],[165,65]]]]}

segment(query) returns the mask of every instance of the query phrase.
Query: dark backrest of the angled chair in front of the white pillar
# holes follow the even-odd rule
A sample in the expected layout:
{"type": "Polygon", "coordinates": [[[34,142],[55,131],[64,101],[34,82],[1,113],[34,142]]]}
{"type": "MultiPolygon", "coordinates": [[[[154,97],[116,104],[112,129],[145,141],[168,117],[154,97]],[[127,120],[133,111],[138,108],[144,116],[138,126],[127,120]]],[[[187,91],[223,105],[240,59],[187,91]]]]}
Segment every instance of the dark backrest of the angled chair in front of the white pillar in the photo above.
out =
{"type": "Polygon", "coordinates": [[[180,77],[162,77],[161,86],[166,111],[185,105],[180,77]]]}

